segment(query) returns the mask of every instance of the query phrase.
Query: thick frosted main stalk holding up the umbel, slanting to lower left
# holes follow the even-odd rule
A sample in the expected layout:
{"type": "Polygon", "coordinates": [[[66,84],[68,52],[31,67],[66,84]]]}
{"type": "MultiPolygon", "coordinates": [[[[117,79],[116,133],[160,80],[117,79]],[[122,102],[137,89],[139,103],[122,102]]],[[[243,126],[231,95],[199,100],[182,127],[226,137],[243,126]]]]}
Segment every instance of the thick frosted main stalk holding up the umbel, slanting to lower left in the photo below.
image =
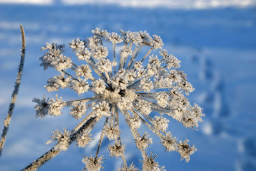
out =
{"type": "MultiPolygon", "coordinates": [[[[77,130],[74,134],[70,135],[69,144],[72,144],[72,142],[74,142],[74,140],[76,140],[77,135],[82,133],[83,130],[87,130],[88,128],[92,128],[96,121],[97,121],[96,117],[88,119],[88,121],[86,123],[84,123],[83,126],[81,126],[81,128],[79,128],[79,130],[77,130]]],[[[29,164],[26,168],[24,168],[22,170],[24,170],[24,171],[25,170],[26,171],[37,170],[42,165],[44,165],[44,163],[46,163],[47,161],[49,161],[52,158],[54,158],[55,156],[57,156],[60,152],[61,152],[61,150],[56,150],[56,149],[54,149],[54,147],[52,147],[52,149],[45,152],[45,154],[40,156],[40,158],[36,159],[35,161],[33,161],[33,163],[29,164]]]]}

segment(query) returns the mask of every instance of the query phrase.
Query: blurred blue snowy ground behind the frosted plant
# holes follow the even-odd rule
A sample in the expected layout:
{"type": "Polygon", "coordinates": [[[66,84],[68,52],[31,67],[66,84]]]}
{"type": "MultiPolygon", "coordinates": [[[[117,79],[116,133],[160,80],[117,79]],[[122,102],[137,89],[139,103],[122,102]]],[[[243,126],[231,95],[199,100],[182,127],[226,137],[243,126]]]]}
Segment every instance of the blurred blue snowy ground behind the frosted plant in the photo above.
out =
{"type": "MultiPolygon", "coordinates": [[[[198,151],[185,163],[177,152],[164,152],[153,136],[148,151],[159,154],[160,165],[166,170],[256,170],[255,7],[255,0],[0,0],[1,129],[20,60],[19,24],[24,26],[27,43],[24,75],[0,170],[26,167],[51,149],[52,144],[45,142],[53,130],[76,125],[68,108],[59,117],[35,118],[31,100],[55,94],[44,89],[55,74],[39,66],[40,47],[52,41],[67,45],[72,39],[92,35],[95,27],[158,34],[164,48],[182,61],[181,69],[196,88],[189,100],[204,108],[205,122],[195,131],[170,119],[169,130],[179,139],[188,138],[198,151]]],[[[72,94],[63,98],[71,99],[72,94]]],[[[101,128],[101,124],[95,127],[95,139],[101,128]]],[[[136,161],[141,168],[140,153],[125,126],[122,134],[127,137],[128,163],[136,161]]],[[[81,170],[83,155],[95,154],[95,143],[86,151],[72,145],[40,170],[81,170]]],[[[103,166],[116,170],[122,161],[109,159],[107,147],[104,140],[100,153],[107,160],[103,166]]]]}

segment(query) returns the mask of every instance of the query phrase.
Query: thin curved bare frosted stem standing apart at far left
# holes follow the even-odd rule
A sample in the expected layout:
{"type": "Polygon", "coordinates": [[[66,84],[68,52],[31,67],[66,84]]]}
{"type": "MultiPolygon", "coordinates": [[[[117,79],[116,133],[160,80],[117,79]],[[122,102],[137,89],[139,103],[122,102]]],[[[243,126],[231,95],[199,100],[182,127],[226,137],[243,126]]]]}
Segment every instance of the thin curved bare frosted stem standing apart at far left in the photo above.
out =
{"type": "Polygon", "coordinates": [[[23,29],[22,25],[20,25],[20,32],[21,32],[21,38],[22,38],[22,48],[21,48],[21,52],[20,52],[20,65],[18,68],[17,78],[16,78],[16,82],[14,85],[14,90],[12,93],[12,100],[11,100],[11,103],[9,106],[8,114],[6,116],[6,119],[4,119],[4,129],[3,129],[3,133],[1,136],[1,142],[0,142],[0,157],[3,152],[3,147],[4,147],[6,136],[7,136],[7,131],[8,131],[11,119],[12,119],[13,109],[15,107],[17,95],[19,93],[20,80],[21,80],[22,71],[23,71],[23,67],[24,67],[24,61],[25,61],[26,41],[25,41],[25,33],[24,33],[24,29],[23,29]]]}

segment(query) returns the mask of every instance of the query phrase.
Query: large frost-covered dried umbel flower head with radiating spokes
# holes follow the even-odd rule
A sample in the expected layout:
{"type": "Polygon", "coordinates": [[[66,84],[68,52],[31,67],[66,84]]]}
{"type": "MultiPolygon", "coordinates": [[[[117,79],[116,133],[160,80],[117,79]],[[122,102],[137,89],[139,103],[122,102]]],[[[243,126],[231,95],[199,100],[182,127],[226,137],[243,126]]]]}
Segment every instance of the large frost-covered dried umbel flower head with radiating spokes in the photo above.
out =
{"type": "MultiPolygon", "coordinates": [[[[147,147],[152,144],[152,138],[148,133],[140,135],[138,129],[141,124],[161,138],[166,151],[177,151],[188,162],[189,154],[196,149],[187,144],[188,140],[182,142],[173,137],[168,131],[170,120],[166,116],[176,119],[186,128],[195,128],[204,114],[198,105],[192,106],[186,98],[193,87],[186,74],[178,69],[180,61],[162,48],[163,41],[159,36],[151,37],[146,31],[121,30],[117,34],[96,28],[92,33],[90,38],[77,38],[68,44],[77,59],[65,56],[63,45],[46,43],[42,47],[46,52],[40,57],[41,66],[60,71],[60,75],[47,80],[47,91],[70,88],[87,98],[68,101],[57,95],[56,100],[35,98],[36,117],[57,116],[61,114],[61,108],[69,107],[72,117],[84,117],[75,130],[90,118],[96,118],[96,122],[105,118],[95,157],[83,160],[87,170],[102,168],[100,163],[103,159],[98,154],[104,137],[113,140],[113,145],[109,145],[109,155],[124,161],[120,170],[138,170],[125,161],[125,145],[122,144],[119,129],[121,122],[127,123],[136,147],[141,151],[143,170],[163,170],[164,167],[154,161],[156,156],[153,157],[152,153],[148,156],[147,147]],[[104,46],[109,44],[113,45],[111,51],[104,46]],[[76,64],[77,60],[80,65],[76,64]],[[89,91],[93,92],[93,96],[86,95],[89,91]],[[86,113],[90,108],[92,112],[86,113]],[[120,115],[124,115],[125,121],[119,121],[120,115]]],[[[93,126],[86,127],[79,135],[74,135],[74,130],[65,130],[65,133],[54,131],[52,138],[58,142],[56,148],[66,150],[74,138],[79,147],[86,147],[92,140],[90,132],[93,126]]]]}

